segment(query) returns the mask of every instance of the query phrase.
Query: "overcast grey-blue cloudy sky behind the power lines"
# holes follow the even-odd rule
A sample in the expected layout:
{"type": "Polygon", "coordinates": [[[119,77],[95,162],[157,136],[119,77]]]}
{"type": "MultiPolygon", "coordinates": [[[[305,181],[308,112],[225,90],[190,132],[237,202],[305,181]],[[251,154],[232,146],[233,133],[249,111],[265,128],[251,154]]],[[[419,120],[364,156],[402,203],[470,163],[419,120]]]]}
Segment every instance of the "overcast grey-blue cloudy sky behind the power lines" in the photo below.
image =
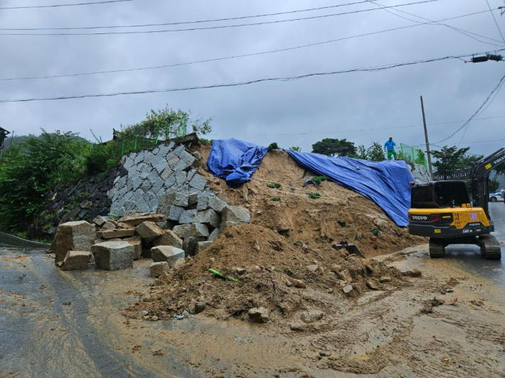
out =
{"type": "MultiPolygon", "coordinates": [[[[120,124],[141,121],[149,109],[161,109],[168,104],[173,109],[191,109],[194,117],[212,117],[213,131],[208,136],[211,139],[235,137],[263,146],[277,141],[284,148],[300,146],[303,151],[311,151],[312,144],[324,138],[346,138],[356,145],[369,146],[373,141],[383,144],[388,136],[393,136],[397,143],[418,145],[424,142],[420,110],[422,95],[430,143],[436,144],[459,129],[505,75],[505,61],[477,64],[464,63],[463,58],[382,71],[319,75],[294,81],[269,81],[184,92],[1,102],[247,82],[394,65],[450,55],[493,53],[505,48],[486,0],[436,0],[389,8],[387,11],[379,9],[379,6],[422,0],[381,0],[375,4],[359,0],[132,0],[6,9],[91,1],[105,0],[0,0],[0,28],[3,29],[0,31],[1,127],[15,131],[16,135],[38,134],[41,128],[75,131],[87,139],[92,139],[92,130],[102,139],[109,140],[112,128],[119,129],[120,124]],[[358,2],[360,4],[344,5],[358,2]],[[327,8],[304,11],[321,7],[327,8]],[[365,11],[367,9],[373,10],[365,11]],[[184,23],[290,11],[299,12],[184,23]],[[348,12],[352,13],[336,15],[348,12]],[[465,16],[469,13],[477,14],[465,16]],[[440,24],[419,24],[456,16],[464,17],[443,23],[462,29],[466,35],[461,30],[440,24]],[[265,23],[293,18],[309,19],[265,23]],[[181,24],[142,28],[7,30],[153,23],[181,24]],[[245,23],[264,24],[209,28],[245,23]],[[188,28],[204,29],[173,31],[188,28]],[[393,28],[400,29],[376,33],[393,28]],[[164,32],[43,35],[125,31],[164,32]],[[12,33],[36,35],[6,35],[12,33]],[[361,36],[367,33],[373,34],[361,36]],[[357,37],[349,38],[353,36],[357,37]],[[341,38],[346,39],[321,43],[341,38]],[[317,43],[276,53],[171,68],[5,80],[177,65],[317,43]]],[[[504,0],[488,1],[491,9],[505,6],[504,0]]],[[[499,10],[493,13],[502,33],[505,33],[505,14],[500,16],[499,10]]],[[[505,51],[501,54],[505,55],[505,51]]],[[[494,92],[494,95],[496,97],[491,97],[493,101],[488,102],[489,106],[487,104],[484,111],[465,128],[466,132],[462,129],[440,146],[458,144],[459,147],[470,146],[472,153],[489,153],[505,145],[505,90],[494,92]]]]}

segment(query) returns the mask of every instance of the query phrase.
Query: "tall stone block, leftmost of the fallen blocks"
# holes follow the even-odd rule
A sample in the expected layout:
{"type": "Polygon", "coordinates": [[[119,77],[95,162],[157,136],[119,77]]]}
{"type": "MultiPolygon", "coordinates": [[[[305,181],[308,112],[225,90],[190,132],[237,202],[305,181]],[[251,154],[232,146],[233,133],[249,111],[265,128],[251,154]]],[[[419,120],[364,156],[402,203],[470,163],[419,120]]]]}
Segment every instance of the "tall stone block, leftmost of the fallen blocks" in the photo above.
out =
{"type": "Polygon", "coordinates": [[[55,263],[63,262],[68,251],[91,251],[95,241],[95,227],[84,220],[63,223],[55,237],[55,263]]]}

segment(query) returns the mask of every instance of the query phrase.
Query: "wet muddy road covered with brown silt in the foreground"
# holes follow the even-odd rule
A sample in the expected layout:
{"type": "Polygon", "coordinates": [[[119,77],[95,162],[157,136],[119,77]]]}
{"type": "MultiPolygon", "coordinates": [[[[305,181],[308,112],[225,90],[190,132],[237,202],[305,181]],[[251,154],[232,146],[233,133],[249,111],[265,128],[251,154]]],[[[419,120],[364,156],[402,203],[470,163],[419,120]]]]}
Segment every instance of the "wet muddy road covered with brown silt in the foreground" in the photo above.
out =
{"type": "MultiPolygon", "coordinates": [[[[490,207],[503,253],[505,206],[490,207]]],[[[0,377],[505,376],[504,263],[474,247],[378,257],[422,276],[342,299],[309,333],[203,314],[129,320],[122,309],[152,290],[147,259],[65,272],[14,244],[0,240],[0,377]],[[431,307],[435,297],[458,301],[431,307]]]]}

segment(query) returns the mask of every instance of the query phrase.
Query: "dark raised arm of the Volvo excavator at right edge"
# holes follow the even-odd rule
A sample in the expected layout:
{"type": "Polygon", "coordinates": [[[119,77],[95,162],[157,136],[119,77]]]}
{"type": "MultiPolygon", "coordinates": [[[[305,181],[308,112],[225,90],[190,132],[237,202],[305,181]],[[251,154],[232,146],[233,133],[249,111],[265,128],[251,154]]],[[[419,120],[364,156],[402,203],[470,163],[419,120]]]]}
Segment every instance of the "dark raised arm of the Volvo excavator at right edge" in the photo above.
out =
{"type": "Polygon", "coordinates": [[[497,149],[488,156],[477,161],[470,171],[470,181],[472,183],[472,198],[474,206],[484,209],[489,218],[489,173],[491,169],[505,162],[505,146],[497,149]]]}

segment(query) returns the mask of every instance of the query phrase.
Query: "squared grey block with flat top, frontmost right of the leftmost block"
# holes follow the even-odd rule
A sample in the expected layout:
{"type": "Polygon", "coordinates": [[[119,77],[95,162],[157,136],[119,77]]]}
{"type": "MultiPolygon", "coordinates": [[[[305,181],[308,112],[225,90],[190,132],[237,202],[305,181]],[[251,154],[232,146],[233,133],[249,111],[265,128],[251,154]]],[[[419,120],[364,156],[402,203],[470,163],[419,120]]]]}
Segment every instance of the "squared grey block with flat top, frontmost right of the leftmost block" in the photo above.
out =
{"type": "Polygon", "coordinates": [[[133,267],[135,249],[128,242],[104,242],[91,247],[98,269],[114,271],[133,267]]]}

